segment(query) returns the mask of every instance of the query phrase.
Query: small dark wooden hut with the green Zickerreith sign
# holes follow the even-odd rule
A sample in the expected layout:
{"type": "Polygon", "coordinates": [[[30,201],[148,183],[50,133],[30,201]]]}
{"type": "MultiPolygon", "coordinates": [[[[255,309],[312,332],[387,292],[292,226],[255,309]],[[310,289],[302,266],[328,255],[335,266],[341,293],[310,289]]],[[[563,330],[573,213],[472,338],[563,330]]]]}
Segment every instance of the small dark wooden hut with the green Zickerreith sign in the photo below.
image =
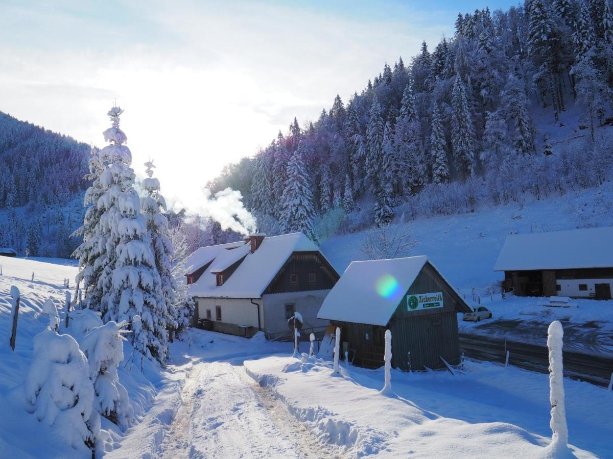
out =
{"type": "Polygon", "coordinates": [[[470,311],[427,256],[411,256],[352,262],[318,318],[340,327],[341,355],[356,365],[383,365],[389,329],[392,367],[424,370],[459,363],[457,313],[470,311]]]}

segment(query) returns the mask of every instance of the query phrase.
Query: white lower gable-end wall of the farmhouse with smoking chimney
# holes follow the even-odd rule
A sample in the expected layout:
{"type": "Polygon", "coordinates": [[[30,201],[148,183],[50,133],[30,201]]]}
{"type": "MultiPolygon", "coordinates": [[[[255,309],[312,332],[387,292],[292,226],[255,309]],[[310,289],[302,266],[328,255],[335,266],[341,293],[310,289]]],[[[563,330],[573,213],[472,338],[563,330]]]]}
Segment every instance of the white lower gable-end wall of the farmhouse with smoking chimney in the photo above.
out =
{"type": "Polygon", "coordinates": [[[327,289],[263,295],[265,330],[267,332],[288,330],[285,305],[291,303],[295,304],[295,310],[302,314],[305,327],[325,327],[329,325],[329,320],[317,318],[319,308],[329,291],[327,289]]]}

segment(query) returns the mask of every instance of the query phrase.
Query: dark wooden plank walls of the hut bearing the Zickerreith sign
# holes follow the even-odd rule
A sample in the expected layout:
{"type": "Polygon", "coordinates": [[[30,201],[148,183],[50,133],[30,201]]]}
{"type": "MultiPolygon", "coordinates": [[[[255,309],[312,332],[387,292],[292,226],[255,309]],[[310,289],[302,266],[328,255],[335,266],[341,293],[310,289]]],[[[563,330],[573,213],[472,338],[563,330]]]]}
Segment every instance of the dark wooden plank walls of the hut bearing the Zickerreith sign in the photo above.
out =
{"type": "MultiPolygon", "coordinates": [[[[351,305],[347,305],[351,307],[351,305]]],[[[376,308],[376,304],[373,304],[376,308]]],[[[348,343],[349,359],[355,365],[383,365],[384,334],[392,332],[392,367],[425,370],[460,362],[457,313],[470,308],[430,263],[426,263],[413,285],[403,295],[387,326],[332,321],[341,328],[341,343],[348,343]],[[409,311],[406,297],[443,292],[443,308],[409,311]]]]}

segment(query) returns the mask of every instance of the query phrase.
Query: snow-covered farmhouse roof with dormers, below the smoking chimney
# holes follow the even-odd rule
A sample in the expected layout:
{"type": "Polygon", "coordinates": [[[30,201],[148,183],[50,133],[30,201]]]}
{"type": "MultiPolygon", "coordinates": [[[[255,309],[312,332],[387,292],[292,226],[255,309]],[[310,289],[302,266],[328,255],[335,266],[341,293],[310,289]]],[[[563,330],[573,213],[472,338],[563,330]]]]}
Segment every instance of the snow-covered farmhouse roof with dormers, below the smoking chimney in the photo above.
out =
{"type": "Polygon", "coordinates": [[[188,272],[196,271],[209,261],[213,263],[195,283],[189,285],[190,296],[259,298],[293,252],[319,252],[319,247],[302,233],[265,237],[254,253],[251,253],[249,244],[245,244],[245,241],[232,244],[236,248],[227,252],[224,249],[231,247],[230,244],[202,247],[194,252],[189,262],[191,264],[188,263],[188,272]],[[223,285],[217,285],[214,274],[243,257],[245,259],[232,275],[224,280],[223,285]],[[199,266],[195,261],[200,263],[199,266]]]}

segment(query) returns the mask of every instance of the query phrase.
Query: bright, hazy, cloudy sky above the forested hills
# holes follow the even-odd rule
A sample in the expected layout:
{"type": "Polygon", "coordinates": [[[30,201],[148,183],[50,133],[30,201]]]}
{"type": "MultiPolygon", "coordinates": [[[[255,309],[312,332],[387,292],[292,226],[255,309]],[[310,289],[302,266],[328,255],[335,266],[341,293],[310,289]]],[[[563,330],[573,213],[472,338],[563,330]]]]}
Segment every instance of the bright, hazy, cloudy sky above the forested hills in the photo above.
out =
{"type": "Polygon", "coordinates": [[[194,207],[228,163],[315,121],[459,11],[510,1],[0,0],[0,111],[103,146],[116,99],[137,174],[194,207]]]}

